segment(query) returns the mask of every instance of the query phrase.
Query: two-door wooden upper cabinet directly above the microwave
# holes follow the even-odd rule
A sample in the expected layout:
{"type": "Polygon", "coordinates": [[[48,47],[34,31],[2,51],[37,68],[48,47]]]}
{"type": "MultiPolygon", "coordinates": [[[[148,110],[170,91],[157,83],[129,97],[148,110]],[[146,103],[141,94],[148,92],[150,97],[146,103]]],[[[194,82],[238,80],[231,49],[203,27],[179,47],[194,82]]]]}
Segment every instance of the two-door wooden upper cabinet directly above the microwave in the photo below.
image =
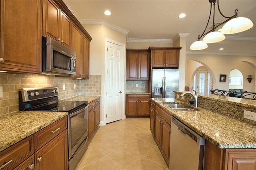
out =
{"type": "Polygon", "coordinates": [[[70,18],[52,1],[44,1],[43,35],[70,47],[70,18]]]}

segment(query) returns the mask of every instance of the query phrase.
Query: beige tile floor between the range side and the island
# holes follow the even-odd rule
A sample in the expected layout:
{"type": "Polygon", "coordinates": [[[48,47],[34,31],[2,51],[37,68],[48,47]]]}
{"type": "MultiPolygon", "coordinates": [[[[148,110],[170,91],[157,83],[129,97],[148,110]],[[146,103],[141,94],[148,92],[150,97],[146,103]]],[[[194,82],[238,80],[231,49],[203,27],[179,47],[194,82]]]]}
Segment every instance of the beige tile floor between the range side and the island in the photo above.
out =
{"type": "Polygon", "coordinates": [[[98,127],[76,170],[168,170],[149,118],[126,118],[98,127]]]}

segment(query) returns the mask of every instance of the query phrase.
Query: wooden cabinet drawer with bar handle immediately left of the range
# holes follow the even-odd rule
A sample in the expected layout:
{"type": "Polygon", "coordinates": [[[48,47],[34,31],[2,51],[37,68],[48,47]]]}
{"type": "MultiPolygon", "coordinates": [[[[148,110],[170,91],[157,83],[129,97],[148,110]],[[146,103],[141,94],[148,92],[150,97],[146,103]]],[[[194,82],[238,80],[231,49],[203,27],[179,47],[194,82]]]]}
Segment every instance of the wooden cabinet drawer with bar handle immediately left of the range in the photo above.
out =
{"type": "Polygon", "coordinates": [[[50,140],[52,140],[55,136],[60,134],[63,130],[65,130],[67,125],[67,116],[52,123],[51,125],[39,130],[34,134],[34,145],[35,151],[44,146],[50,140]]]}

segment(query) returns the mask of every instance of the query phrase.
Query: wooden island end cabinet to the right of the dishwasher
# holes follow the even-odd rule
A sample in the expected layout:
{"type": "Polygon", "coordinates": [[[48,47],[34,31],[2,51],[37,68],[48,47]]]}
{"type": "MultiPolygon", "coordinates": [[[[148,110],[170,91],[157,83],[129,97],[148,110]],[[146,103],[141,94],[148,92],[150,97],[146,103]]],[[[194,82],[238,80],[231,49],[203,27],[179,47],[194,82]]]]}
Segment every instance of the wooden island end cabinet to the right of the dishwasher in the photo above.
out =
{"type": "Polygon", "coordinates": [[[220,149],[206,140],[204,170],[256,170],[256,149],[220,149]]]}

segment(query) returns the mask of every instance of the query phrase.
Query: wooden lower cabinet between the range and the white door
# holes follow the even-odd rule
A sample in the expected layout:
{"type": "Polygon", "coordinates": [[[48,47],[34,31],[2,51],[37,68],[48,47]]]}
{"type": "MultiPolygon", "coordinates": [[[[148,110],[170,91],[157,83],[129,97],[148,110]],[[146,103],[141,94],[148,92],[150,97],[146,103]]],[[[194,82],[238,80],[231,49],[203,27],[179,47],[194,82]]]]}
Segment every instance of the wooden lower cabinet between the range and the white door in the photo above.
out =
{"type": "Polygon", "coordinates": [[[100,98],[88,105],[88,137],[90,138],[100,125],[100,98]]]}

